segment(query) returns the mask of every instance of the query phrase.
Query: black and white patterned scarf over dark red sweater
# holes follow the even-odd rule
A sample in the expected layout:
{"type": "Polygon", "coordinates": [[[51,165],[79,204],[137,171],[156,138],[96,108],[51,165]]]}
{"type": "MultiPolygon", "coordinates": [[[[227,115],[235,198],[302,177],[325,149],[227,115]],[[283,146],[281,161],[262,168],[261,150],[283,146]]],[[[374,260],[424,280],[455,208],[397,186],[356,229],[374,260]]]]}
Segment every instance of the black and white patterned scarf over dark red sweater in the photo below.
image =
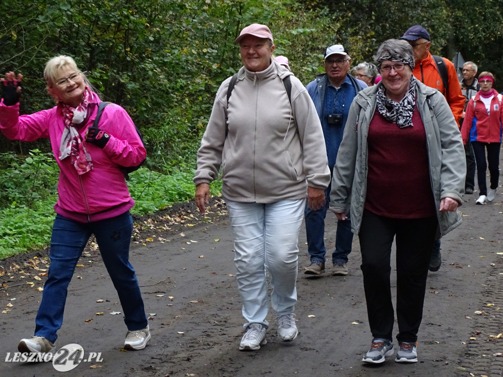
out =
{"type": "Polygon", "coordinates": [[[384,119],[391,123],[396,123],[398,127],[412,127],[412,113],[415,108],[415,80],[410,77],[410,85],[405,97],[400,102],[390,100],[384,94],[386,88],[382,81],[379,82],[377,90],[377,110],[384,119]]]}

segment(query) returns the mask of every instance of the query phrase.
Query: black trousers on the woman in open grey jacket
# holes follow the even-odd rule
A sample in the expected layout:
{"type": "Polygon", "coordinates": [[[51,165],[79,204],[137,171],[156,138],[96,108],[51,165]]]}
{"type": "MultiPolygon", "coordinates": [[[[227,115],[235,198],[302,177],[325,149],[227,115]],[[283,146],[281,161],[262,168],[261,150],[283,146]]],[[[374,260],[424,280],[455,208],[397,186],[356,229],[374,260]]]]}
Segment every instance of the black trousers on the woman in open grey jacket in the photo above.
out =
{"type": "Polygon", "coordinates": [[[415,342],[423,319],[436,217],[391,219],[365,210],[360,228],[363,285],[374,338],[392,339],[391,244],[396,237],[396,317],[399,342],[415,342]]]}

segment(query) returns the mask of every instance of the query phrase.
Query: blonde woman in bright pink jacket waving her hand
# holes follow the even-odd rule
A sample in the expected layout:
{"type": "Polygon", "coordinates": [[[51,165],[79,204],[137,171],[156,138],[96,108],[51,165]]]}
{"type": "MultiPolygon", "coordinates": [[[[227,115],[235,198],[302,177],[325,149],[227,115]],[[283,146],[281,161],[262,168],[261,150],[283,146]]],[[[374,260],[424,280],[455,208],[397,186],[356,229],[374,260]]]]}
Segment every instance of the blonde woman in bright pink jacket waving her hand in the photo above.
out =
{"type": "Polygon", "coordinates": [[[0,129],[11,140],[49,138],[60,174],[51,263],[35,334],[21,339],[18,350],[54,354],[68,284],[92,234],[124,312],[128,328],[124,348],[143,349],[150,332],[129,263],[133,228],[129,209],[134,201],[121,171],[121,166],[136,166],[145,159],[141,139],[127,112],[117,105],[107,106],[98,127],[93,127],[101,101],[71,57],[54,57],[45,66],[47,91],[57,103],[52,109],[19,115],[22,78],[8,72],[2,79],[0,129]]]}

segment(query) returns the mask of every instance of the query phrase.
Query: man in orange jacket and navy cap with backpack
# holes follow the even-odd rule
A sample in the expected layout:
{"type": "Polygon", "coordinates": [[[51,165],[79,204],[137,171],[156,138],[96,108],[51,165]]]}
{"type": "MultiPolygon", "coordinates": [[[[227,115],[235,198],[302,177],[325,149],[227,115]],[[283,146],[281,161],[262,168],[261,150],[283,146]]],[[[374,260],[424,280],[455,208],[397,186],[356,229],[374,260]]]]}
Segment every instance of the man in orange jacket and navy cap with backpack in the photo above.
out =
{"type": "MultiPolygon", "coordinates": [[[[447,58],[430,53],[432,45],[430,34],[421,25],[410,27],[399,39],[406,40],[414,52],[415,67],[412,73],[425,85],[439,89],[449,104],[456,122],[461,120],[465,107],[465,98],[454,64],[447,58]]],[[[435,241],[430,260],[430,271],[438,271],[442,265],[440,239],[435,241]]]]}

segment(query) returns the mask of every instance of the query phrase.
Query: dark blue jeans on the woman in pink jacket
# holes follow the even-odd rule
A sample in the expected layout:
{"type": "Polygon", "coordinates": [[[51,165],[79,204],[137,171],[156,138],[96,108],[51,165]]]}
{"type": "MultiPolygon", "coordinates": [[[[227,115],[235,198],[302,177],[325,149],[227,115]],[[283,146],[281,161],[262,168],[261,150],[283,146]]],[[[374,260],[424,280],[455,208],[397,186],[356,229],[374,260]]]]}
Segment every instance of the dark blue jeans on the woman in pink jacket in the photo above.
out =
{"type": "Polygon", "coordinates": [[[79,223],[56,215],[52,228],[51,264],[42,301],[35,319],[35,336],[55,342],[63,323],[68,284],[89,238],[94,233],[101,256],[112,279],[124,312],[128,330],[147,327],[140,287],[133,266],[129,263],[129,243],[133,219],[128,212],[111,219],[79,223]]]}

